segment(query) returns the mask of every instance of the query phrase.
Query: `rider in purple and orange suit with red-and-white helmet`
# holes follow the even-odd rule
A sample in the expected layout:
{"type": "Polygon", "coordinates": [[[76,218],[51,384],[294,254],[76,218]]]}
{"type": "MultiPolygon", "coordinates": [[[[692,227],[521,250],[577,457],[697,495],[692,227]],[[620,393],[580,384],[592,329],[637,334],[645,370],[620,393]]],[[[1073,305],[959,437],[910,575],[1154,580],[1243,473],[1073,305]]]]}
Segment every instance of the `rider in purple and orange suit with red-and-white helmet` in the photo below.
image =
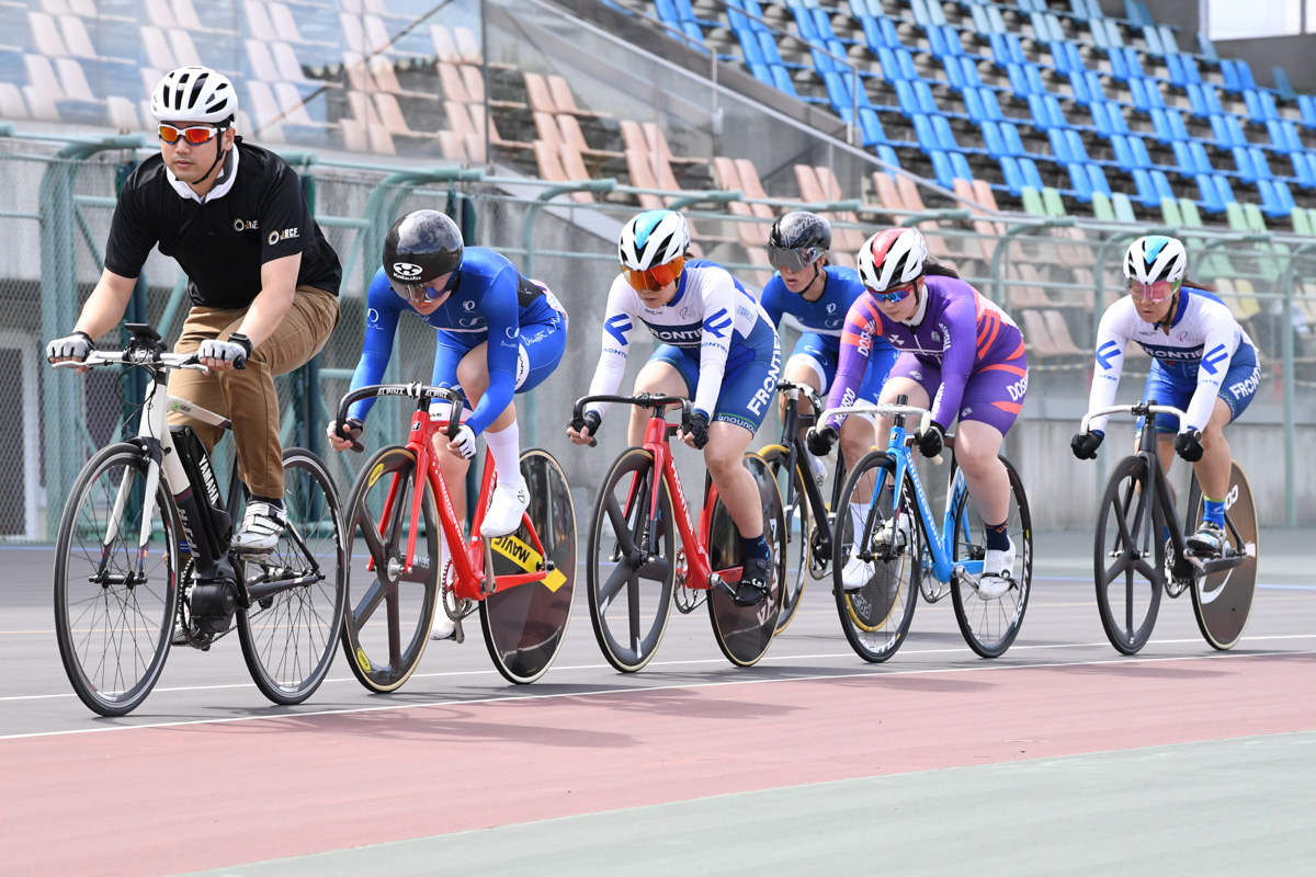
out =
{"type": "MultiPolygon", "coordinates": [[[[1024,337],[1011,318],[950,268],[928,258],[917,229],[887,229],[859,250],[859,277],[867,293],[855,300],[841,337],[841,366],[828,396],[840,408],[846,393],[863,379],[873,339],[884,335],[900,351],[882,402],[907,396],[909,405],[929,408],[932,422],[916,435],[924,456],[941,454],[946,427],[959,419],[955,462],[987,530],[987,552],[978,596],[994,600],[1011,588],[1015,546],[1005,533],[1009,514],[1009,475],[998,459],[1001,440],[1023,406],[1028,391],[1024,337]]],[[[822,430],[834,430],[829,422],[822,430]]],[[[882,418],[879,435],[891,429],[882,418]]],[[[834,433],[833,433],[834,434],[834,433]]],[[[855,533],[866,504],[857,504],[855,533]]],[[[880,538],[908,539],[912,521],[880,538]]],[[[842,585],[862,588],[871,569],[858,552],[841,572],[842,585]]]]}

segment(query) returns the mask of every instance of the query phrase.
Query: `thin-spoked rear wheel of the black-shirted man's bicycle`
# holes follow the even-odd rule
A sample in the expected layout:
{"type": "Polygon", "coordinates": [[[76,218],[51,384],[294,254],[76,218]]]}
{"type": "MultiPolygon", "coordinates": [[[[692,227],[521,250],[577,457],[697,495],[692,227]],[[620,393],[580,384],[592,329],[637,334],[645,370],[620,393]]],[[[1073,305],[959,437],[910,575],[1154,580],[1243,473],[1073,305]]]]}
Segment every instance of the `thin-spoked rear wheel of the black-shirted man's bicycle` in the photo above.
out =
{"type": "Polygon", "coordinates": [[[238,613],[242,657],[261,693],[300,703],[329,673],[342,630],[347,551],[338,490],[311,451],[283,452],[283,508],[288,529],[268,556],[247,560],[247,589],[287,588],[238,613]]]}

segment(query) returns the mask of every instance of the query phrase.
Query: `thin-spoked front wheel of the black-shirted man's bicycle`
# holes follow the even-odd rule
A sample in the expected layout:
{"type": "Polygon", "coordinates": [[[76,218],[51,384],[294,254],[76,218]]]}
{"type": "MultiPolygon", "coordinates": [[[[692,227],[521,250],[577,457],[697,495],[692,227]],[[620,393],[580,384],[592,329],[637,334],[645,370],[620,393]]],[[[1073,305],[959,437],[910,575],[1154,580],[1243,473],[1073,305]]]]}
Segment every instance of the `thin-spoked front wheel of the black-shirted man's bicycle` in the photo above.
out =
{"type": "Polygon", "coordinates": [[[55,638],[79,699],[132,713],[159,678],[178,611],[179,529],[133,444],[104,448],[74,481],[55,542],[55,638]],[[142,523],[150,534],[139,546],[142,523]]]}

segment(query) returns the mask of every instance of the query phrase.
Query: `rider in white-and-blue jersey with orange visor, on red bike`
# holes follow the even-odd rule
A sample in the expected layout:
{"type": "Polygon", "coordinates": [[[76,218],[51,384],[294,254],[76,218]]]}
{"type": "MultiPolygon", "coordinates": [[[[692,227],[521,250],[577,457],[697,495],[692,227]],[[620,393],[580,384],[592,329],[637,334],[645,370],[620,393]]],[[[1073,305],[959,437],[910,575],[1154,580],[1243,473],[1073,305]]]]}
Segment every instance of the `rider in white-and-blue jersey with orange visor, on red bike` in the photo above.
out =
{"type": "MultiPolygon", "coordinates": [[[[745,572],[736,592],[753,606],[771,588],[772,559],[763,538],[758,488],[741,463],[763,422],[782,371],[776,330],[758,301],[721,266],[690,259],[690,226],[672,210],[647,210],[621,230],[621,273],[608,293],[603,350],[590,394],[617,392],[637,323],[665,342],[636,377],[636,393],[688,396],[694,410],[676,434],[704,451],[704,463],[736,522],[745,572]]],[[[608,406],[586,409],[576,444],[599,431],[608,406]]],[[[644,444],[649,412],[630,412],[630,444],[644,444]]]]}

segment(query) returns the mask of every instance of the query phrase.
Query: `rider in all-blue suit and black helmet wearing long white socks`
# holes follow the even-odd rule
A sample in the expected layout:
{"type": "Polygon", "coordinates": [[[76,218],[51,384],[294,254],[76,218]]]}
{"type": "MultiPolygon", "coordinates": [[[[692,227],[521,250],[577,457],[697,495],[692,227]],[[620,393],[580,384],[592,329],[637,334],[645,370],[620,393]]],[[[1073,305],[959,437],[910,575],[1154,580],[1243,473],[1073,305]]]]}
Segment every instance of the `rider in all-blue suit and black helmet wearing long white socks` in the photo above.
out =
{"type": "MultiPolygon", "coordinates": [[[[408,313],[436,330],[430,383],[461,391],[462,426],[457,438],[436,442],[459,518],[466,515],[466,469],[475,456],[475,438],[494,458],[497,486],[490,501],[480,535],[516,531],[530,494],[521,475],[521,438],[513,394],[538,387],[562,362],[567,342],[567,314],[557,297],[494,250],[467,247],[462,233],[445,213],[416,210],[397,220],[384,238],[383,267],[370,283],[366,337],[351,375],[351,389],[378,384],[393,348],[397,320],[408,313]]],[[[358,401],[343,423],[347,438],[330,423],[329,440],[345,451],[361,438],[362,419],[374,398],[358,401]]],[[[447,413],[436,402],[436,413],[447,413]]],[[[440,536],[442,539],[442,535],[440,536]]],[[[443,576],[450,567],[443,542],[443,576]]],[[[434,613],[433,639],[454,634],[447,613],[434,613]]]]}

